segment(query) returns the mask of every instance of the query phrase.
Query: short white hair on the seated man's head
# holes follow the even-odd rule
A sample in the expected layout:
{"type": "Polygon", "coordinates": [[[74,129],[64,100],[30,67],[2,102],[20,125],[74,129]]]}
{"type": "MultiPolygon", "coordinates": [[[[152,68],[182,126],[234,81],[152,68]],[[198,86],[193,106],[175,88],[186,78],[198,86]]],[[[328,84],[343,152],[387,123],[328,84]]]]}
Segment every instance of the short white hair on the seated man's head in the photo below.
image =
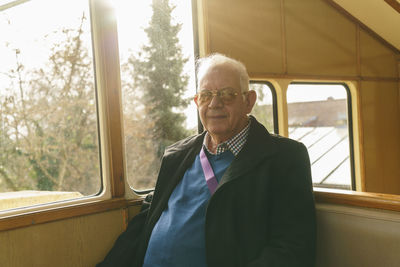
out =
{"type": "Polygon", "coordinates": [[[207,74],[208,70],[221,65],[228,65],[233,68],[238,74],[240,79],[240,90],[242,92],[249,91],[249,74],[247,73],[246,66],[233,58],[225,55],[214,53],[204,58],[199,58],[196,62],[197,73],[197,88],[199,88],[201,80],[207,74]]]}

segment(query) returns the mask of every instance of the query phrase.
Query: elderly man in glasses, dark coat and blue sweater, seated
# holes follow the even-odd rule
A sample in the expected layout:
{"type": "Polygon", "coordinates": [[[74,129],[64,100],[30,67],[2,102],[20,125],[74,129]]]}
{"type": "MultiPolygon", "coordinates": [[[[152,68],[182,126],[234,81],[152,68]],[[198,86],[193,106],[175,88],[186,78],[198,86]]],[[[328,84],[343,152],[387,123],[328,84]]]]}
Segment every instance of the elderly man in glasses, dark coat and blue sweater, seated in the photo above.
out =
{"type": "Polygon", "coordinates": [[[150,208],[99,266],[314,266],[306,148],[248,116],[257,96],[242,63],[213,54],[197,77],[205,131],[166,149],[150,208]]]}

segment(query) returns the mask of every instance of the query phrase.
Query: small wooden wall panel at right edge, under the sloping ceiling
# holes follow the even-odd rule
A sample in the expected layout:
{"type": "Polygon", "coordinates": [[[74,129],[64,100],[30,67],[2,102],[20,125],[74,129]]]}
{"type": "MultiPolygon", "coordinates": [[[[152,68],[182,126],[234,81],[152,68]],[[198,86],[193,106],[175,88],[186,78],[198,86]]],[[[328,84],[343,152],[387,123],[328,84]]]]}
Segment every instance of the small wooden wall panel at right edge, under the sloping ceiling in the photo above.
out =
{"type": "Polygon", "coordinates": [[[363,30],[360,32],[360,58],[362,76],[399,77],[396,54],[363,30]]]}

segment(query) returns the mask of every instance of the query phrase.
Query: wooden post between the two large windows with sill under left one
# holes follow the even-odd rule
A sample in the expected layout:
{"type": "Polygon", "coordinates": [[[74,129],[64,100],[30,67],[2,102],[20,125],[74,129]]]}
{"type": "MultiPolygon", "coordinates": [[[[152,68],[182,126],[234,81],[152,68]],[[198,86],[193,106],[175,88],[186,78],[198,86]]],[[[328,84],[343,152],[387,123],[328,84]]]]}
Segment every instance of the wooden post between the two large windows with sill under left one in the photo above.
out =
{"type": "Polygon", "coordinates": [[[138,206],[125,198],[119,52],[115,14],[109,0],[87,0],[90,10],[99,124],[100,192],[94,196],[0,212],[0,231],[138,206]],[[105,18],[108,18],[107,20],[105,18]]]}

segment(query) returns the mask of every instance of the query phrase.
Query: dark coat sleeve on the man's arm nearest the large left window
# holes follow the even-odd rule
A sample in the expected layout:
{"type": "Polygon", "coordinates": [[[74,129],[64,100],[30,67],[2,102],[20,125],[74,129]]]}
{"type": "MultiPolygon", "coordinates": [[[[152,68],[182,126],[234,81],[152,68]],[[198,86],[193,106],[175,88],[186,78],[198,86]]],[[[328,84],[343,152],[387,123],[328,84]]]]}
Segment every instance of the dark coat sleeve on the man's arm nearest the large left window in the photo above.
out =
{"type": "Polygon", "coordinates": [[[127,229],[115,241],[104,260],[96,267],[128,267],[132,266],[138,246],[141,242],[141,233],[150,208],[152,193],[143,201],[141,211],[129,222],[127,229]]]}

